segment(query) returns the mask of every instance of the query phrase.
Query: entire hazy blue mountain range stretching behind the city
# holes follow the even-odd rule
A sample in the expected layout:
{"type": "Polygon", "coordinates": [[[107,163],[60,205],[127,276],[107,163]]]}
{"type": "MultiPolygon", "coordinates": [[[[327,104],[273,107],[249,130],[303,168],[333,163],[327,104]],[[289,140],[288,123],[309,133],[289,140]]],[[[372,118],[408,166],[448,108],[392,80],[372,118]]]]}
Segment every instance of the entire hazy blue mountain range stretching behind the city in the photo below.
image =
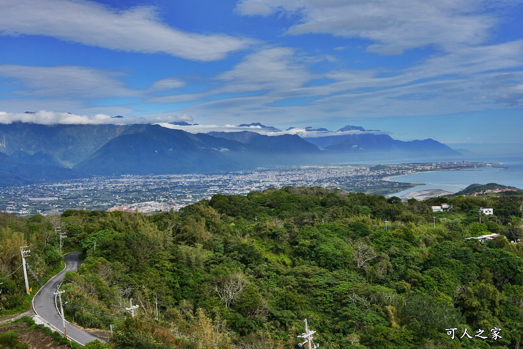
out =
{"type": "Polygon", "coordinates": [[[96,175],[203,173],[251,170],[259,166],[385,160],[399,154],[411,158],[460,155],[432,139],[399,141],[357,126],[335,132],[306,128],[305,135],[310,132],[314,137],[282,134],[279,129],[261,123],[237,128],[245,130],[189,133],[149,124],[0,124],[0,185],[96,175]],[[267,136],[253,130],[277,135],[267,136]]]}

